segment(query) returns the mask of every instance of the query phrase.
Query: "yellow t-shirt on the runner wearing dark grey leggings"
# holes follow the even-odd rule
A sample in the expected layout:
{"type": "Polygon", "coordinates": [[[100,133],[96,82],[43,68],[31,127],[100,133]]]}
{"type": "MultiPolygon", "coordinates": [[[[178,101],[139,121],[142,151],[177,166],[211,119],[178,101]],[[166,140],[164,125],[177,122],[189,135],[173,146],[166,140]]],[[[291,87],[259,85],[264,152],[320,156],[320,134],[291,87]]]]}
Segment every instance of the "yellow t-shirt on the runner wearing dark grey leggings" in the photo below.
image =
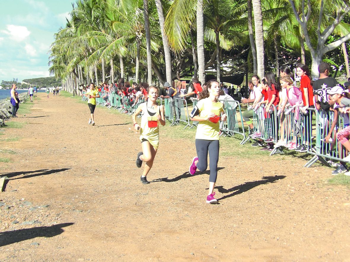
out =
{"type": "MultiPolygon", "coordinates": [[[[197,109],[200,117],[208,117],[211,113],[220,116],[224,112],[221,102],[212,102],[209,97],[198,101],[197,109]]],[[[213,123],[209,120],[198,123],[196,139],[219,140],[219,122],[213,123]]]]}

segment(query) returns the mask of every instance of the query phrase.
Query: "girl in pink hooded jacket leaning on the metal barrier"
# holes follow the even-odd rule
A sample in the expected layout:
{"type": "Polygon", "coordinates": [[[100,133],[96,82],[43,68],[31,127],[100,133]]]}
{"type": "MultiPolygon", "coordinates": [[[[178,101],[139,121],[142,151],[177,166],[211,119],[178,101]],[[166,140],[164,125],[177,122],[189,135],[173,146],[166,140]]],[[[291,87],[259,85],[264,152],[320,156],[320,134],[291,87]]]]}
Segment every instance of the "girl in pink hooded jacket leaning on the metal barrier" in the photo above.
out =
{"type": "MultiPolygon", "coordinates": [[[[286,144],[286,139],[278,141],[278,146],[286,146],[289,150],[294,150],[296,148],[296,121],[299,120],[299,107],[303,105],[302,94],[299,88],[292,86],[293,80],[292,78],[285,76],[280,79],[281,87],[287,89],[287,106],[290,107],[289,110],[286,111],[286,114],[289,114],[291,110],[294,108],[294,118],[291,121],[290,129],[294,132],[293,141],[289,144],[286,144]],[[289,112],[288,112],[289,111],[289,112]]],[[[287,127],[289,130],[289,127],[287,127]]]]}

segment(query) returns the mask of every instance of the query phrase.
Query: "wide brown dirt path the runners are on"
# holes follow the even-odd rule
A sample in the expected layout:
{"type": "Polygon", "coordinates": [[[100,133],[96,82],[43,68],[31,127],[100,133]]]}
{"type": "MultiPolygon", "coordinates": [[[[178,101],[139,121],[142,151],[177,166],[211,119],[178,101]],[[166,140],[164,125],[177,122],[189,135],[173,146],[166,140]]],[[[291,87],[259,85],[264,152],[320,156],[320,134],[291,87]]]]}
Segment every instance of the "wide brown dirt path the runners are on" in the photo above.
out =
{"type": "Polygon", "coordinates": [[[87,105],[38,95],[2,136],[21,139],[0,141],[16,152],[0,164],[0,261],[349,261],[349,190],[325,183],[329,169],[221,157],[209,205],[208,175],[187,173],[194,139],[162,129],[143,185],[130,118],[97,108],[91,126],[87,105]]]}

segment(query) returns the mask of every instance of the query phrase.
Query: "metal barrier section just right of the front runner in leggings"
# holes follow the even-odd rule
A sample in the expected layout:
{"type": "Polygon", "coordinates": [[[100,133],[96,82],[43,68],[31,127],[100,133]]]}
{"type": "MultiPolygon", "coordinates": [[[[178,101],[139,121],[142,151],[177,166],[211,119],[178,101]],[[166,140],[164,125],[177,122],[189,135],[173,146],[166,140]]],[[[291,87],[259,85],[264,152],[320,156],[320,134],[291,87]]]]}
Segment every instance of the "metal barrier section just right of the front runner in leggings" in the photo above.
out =
{"type": "Polygon", "coordinates": [[[227,115],[226,121],[221,121],[221,131],[230,137],[232,137],[234,134],[240,134],[241,136],[243,136],[243,139],[240,142],[240,145],[242,145],[244,140],[246,139],[246,135],[244,131],[244,125],[242,122],[243,117],[239,102],[236,100],[220,100],[220,102],[223,103],[224,110],[227,115]],[[240,124],[238,123],[237,119],[237,108],[241,119],[240,124]]]}

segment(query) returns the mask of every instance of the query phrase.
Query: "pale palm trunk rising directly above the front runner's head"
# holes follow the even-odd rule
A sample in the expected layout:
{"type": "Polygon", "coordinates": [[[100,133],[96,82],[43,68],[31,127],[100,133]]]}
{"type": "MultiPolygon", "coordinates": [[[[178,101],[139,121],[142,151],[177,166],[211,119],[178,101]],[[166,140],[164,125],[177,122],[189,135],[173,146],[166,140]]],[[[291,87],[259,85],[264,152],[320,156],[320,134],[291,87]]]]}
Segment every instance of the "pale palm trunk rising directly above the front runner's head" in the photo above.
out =
{"type": "Polygon", "coordinates": [[[197,54],[198,54],[198,79],[203,84],[205,82],[203,0],[197,0],[197,54]]]}

